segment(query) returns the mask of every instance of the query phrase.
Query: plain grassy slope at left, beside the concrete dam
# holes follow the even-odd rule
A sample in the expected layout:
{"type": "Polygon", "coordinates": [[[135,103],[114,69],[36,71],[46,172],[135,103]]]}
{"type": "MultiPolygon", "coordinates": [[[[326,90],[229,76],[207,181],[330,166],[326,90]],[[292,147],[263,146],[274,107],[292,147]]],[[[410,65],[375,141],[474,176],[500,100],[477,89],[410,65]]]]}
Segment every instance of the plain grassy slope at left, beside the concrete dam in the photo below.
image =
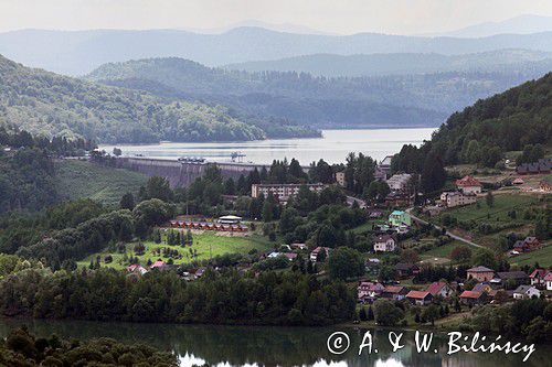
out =
{"type": "Polygon", "coordinates": [[[85,161],[56,161],[56,188],[63,199],[92,198],[102,204],[118,204],[120,197],[138,193],[148,177],[141,173],[113,169],[85,161]]]}

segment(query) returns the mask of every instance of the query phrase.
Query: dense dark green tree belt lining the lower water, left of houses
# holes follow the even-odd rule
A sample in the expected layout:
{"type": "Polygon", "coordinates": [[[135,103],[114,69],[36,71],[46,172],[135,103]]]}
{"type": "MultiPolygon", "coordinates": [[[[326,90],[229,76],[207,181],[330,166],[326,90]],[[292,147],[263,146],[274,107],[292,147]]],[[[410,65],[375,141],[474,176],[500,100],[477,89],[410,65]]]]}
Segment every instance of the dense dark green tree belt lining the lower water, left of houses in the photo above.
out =
{"type": "Polygon", "coordinates": [[[354,305],[344,283],[300,272],[208,271],[185,282],[171,271],[136,277],[113,269],[30,268],[0,281],[3,315],[41,319],[325,325],[352,320],[354,305]]]}

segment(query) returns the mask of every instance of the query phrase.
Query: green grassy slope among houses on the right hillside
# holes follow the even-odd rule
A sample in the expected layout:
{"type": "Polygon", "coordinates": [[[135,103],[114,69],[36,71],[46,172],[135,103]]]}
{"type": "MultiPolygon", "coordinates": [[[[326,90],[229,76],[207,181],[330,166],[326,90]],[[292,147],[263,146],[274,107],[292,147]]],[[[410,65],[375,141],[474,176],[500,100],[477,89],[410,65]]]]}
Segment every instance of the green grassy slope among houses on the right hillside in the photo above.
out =
{"type": "MultiPolygon", "coordinates": [[[[497,220],[511,220],[508,217],[508,212],[512,209],[524,209],[531,204],[537,203],[537,197],[529,195],[517,195],[517,194],[501,194],[495,195],[495,204],[492,207],[488,207],[485,197],[478,199],[479,208],[476,204],[456,207],[443,212],[456,217],[458,220],[478,220],[486,219],[489,215],[490,218],[497,220]]],[[[518,216],[518,220],[521,220],[521,216],[518,216]]]]}

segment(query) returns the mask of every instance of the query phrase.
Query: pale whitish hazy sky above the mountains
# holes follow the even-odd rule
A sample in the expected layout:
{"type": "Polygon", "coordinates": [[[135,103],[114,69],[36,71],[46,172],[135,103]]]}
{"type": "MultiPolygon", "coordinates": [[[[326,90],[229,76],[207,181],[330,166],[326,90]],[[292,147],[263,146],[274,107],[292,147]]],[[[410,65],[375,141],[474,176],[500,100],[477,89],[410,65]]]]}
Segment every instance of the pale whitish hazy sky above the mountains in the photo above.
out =
{"type": "Polygon", "coordinates": [[[0,0],[0,31],[213,29],[255,19],[330,33],[413,34],[527,13],[552,15],[552,0],[0,0]]]}

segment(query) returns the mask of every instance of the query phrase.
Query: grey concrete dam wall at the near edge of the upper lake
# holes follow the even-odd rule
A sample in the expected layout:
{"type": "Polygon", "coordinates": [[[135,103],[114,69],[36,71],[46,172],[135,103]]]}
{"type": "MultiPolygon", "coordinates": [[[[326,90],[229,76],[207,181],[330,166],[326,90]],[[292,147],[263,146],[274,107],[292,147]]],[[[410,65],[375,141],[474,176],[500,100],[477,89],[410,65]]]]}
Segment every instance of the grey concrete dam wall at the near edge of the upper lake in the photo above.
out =
{"type": "MultiPolygon", "coordinates": [[[[148,176],[166,177],[172,187],[185,187],[195,179],[201,177],[209,165],[215,164],[225,179],[238,179],[247,175],[255,169],[268,169],[269,164],[237,163],[237,162],[200,162],[163,160],[142,156],[120,156],[116,160],[116,166],[144,173],[148,176]]],[[[302,168],[308,172],[309,168],[302,168]]]]}

